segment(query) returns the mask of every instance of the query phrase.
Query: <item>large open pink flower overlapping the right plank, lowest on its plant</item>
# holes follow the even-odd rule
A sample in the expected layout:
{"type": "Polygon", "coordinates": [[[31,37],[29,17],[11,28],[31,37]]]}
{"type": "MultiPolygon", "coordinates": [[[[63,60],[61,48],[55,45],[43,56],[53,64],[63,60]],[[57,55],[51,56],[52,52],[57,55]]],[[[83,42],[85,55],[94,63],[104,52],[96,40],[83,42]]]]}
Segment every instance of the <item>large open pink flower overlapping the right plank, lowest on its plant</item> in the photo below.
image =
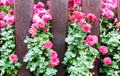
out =
{"type": "Polygon", "coordinates": [[[86,43],[89,46],[93,46],[98,42],[98,37],[96,35],[88,35],[86,38],[86,43]]]}

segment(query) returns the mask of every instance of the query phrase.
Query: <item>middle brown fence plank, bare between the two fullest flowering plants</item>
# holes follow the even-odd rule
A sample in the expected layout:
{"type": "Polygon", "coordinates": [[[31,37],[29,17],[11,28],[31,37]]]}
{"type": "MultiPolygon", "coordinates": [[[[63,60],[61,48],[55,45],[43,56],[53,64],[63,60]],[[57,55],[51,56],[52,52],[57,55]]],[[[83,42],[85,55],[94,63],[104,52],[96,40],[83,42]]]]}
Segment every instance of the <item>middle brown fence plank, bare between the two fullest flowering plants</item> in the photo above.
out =
{"type": "MultiPolygon", "coordinates": [[[[50,0],[50,11],[52,15],[53,49],[58,52],[60,62],[63,61],[66,51],[65,38],[67,35],[68,0],[50,0]]],[[[56,76],[65,76],[65,67],[60,63],[57,67],[56,76]]]]}

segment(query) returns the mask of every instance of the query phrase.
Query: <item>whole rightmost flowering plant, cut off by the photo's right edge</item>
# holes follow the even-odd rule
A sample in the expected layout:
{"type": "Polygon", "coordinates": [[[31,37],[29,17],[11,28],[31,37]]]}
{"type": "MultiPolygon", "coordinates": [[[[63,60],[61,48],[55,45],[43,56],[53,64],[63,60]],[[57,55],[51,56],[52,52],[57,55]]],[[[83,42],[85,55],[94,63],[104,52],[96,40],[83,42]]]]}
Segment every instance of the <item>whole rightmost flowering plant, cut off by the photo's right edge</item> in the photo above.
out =
{"type": "Polygon", "coordinates": [[[101,52],[103,63],[100,64],[100,73],[106,76],[120,75],[120,25],[116,18],[116,8],[117,0],[103,0],[100,19],[100,45],[105,45],[108,52],[101,52]]]}

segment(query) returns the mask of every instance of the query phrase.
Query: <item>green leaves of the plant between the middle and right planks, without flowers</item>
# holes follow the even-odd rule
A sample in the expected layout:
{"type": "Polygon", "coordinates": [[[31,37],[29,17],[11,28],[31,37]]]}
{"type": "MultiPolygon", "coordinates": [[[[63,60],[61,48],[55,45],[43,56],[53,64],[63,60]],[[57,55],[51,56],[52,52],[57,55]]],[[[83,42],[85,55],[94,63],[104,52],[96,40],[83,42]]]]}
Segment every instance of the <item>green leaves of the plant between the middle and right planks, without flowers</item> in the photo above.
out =
{"type": "Polygon", "coordinates": [[[77,23],[69,25],[66,38],[68,49],[63,64],[67,66],[70,76],[92,76],[89,69],[93,69],[94,58],[99,56],[99,52],[84,44],[86,36],[87,33],[83,32],[77,23]]]}

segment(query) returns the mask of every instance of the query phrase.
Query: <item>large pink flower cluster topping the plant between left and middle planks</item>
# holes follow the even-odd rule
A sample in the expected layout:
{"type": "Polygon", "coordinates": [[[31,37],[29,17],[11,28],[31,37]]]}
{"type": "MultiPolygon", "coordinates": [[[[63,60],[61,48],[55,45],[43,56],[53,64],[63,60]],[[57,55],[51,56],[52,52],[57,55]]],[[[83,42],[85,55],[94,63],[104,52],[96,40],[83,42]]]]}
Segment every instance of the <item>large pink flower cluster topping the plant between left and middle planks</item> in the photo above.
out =
{"type": "Polygon", "coordinates": [[[38,29],[43,29],[44,32],[48,32],[49,29],[46,28],[46,23],[52,20],[49,10],[44,9],[42,2],[38,2],[34,4],[33,12],[32,26],[29,29],[29,33],[34,36],[37,34],[38,29]]]}

